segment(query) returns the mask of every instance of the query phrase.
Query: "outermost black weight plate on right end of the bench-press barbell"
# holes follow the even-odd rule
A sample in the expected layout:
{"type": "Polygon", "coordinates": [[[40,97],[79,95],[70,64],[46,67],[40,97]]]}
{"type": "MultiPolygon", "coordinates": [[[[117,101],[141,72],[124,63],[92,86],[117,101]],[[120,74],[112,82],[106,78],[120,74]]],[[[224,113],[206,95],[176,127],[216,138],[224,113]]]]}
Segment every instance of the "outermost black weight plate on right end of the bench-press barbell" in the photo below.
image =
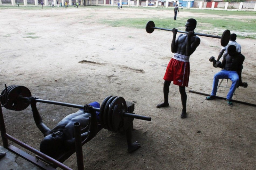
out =
{"type": "Polygon", "coordinates": [[[112,126],[113,129],[119,132],[120,125],[123,125],[125,118],[122,116],[121,110],[126,111],[127,105],[124,98],[119,97],[113,102],[113,111],[112,111],[112,126]],[[115,105],[118,105],[117,108],[114,108],[115,105]]]}

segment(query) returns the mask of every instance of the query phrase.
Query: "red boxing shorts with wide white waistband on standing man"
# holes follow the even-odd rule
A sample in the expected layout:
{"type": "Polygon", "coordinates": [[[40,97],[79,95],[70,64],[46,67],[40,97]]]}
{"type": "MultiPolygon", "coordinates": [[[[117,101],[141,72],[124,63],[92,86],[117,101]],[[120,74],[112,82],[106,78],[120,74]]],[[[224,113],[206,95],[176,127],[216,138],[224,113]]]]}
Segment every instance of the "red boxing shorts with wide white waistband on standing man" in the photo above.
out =
{"type": "Polygon", "coordinates": [[[189,84],[189,56],[174,53],[163,77],[166,81],[173,81],[173,84],[187,87],[189,84]]]}

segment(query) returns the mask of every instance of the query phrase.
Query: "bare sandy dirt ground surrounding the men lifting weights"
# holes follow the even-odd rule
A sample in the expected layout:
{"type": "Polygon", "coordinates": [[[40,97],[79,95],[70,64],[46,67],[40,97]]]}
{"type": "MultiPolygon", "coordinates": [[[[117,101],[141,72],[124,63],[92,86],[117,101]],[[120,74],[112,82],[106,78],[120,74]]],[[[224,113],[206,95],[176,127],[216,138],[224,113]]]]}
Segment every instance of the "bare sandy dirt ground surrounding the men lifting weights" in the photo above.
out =
{"type": "MultiPolygon", "coordinates": [[[[86,169],[255,169],[255,107],[236,102],[229,107],[225,100],[206,101],[205,96],[189,92],[211,92],[213,75],[220,69],[213,68],[209,57],[217,57],[219,39],[200,37],[191,55],[188,117],[181,119],[178,86],[170,86],[170,106],[156,108],[163,101],[162,78],[172,56],[173,34],[99,23],[138,16],[170,16],[171,20],[173,14],[146,8],[0,10],[0,88],[22,85],[40,99],[78,105],[121,96],[135,102],[135,114],[152,117],[151,122],[134,120],[133,141],[142,147],[133,153],[127,152],[124,135],[102,129],[83,146],[86,169]]],[[[178,17],[200,15],[180,12],[178,17]]],[[[237,41],[246,57],[242,78],[248,88],[239,87],[233,99],[256,104],[256,40],[237,41]]],[[[226,97],[228,90],[220,88],[217,95],[226,97]]],[[[49,128],[77,110],[37,106],[49,128]]],[[[39,149],[43,135],[30,107],[23,111],[3,108],[3,114],[7,133],[39,149]]],[[[64,163],[76,169],[75,154],[64,163]]]]}

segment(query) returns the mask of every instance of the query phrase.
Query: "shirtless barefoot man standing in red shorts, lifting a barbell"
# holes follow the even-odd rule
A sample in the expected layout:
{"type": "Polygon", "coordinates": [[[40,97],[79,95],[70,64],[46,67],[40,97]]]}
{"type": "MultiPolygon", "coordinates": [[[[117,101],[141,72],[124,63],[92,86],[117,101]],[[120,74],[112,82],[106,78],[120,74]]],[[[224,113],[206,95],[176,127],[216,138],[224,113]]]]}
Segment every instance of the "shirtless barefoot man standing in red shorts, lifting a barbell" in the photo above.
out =
{"type": "Polygon", "coordinates": [[[197,21],[193,18],[187,20],[185,30],[187,34],[181,34],[176,39],[177,29],[173,29],[173,41],[171,42],[171,52],[174,53],[173,58],[170,60],[163,83],[163,96],[164,102],[157,105],[160,107],[168,107],[168,94],[171,81],[179,86],[181,93],[182,113],[181,118],[185,118],[187,94],[185,87],[189,84],[190,64],[189,57],[200,44],[200,38],[194,34],[194,29],[197,26],[197,21]],[[176,40],[175,40],[176,39],[176,40]]]}

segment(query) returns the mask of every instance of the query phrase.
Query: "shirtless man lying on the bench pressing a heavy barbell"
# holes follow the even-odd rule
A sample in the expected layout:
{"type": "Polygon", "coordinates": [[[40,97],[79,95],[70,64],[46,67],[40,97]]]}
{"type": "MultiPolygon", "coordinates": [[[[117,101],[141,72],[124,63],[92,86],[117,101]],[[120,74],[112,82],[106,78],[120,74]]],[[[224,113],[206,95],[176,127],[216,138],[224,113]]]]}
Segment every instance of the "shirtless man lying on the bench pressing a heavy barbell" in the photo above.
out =
{"type": "MultiPolygon", "coordinates": [[[[34,97],[30,97],[29,100],[35,124],[42,132],[43,140],[40,144],[40,151],[57,158],[59,153],[75,149],[74,138],[74,123],[79,122],[81,126],[81,140],[85,143],[90,141],[101,129],[99,125],[99,113],[90,111],[91,107],[99,108],[98,102],[93,102],[90,105],[85,105],[85,111],[79,110],[76,113],[72,113],[63,118],[53,129],[49,129],[43,122],[42,118],[36,107],[36,100],[34,97]]],[[[131,143],[131,125],[125,131],[128,145],[128,152],[137,150],[140,146],[138,142],[131,143]]]]}

